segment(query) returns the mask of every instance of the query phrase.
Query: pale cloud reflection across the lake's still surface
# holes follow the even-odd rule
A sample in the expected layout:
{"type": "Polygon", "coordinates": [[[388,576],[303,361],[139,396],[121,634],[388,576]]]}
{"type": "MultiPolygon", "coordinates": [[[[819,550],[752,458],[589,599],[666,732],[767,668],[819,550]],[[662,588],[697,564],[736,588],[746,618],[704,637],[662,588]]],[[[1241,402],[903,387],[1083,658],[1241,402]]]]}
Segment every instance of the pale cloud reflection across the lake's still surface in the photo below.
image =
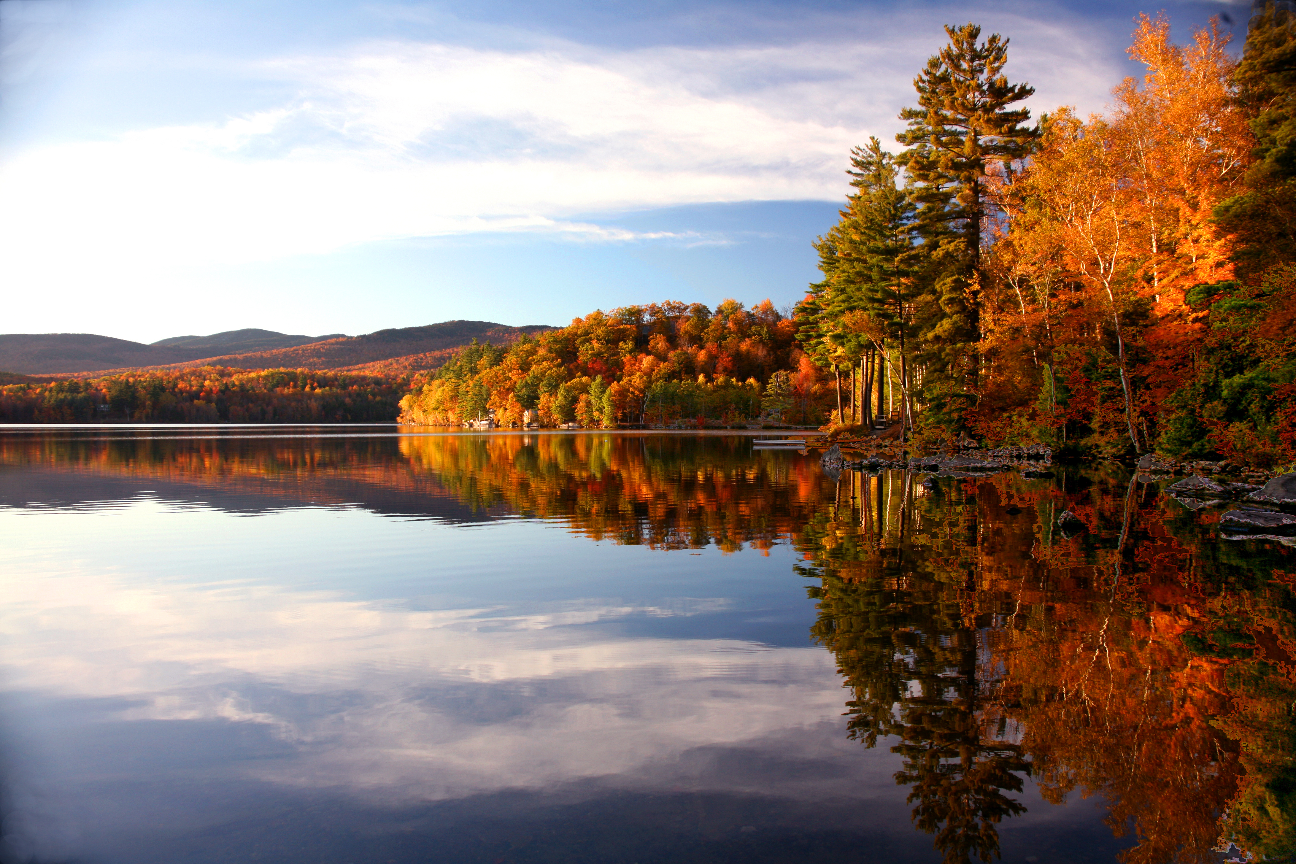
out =
{"type": "Polygon", "coordinates": [[[262,725],[298,749],[249,768],[280,784],[416,798],[540,788],[840,712],[820,649],[614,628],[719,600],[420,611],[254,584],[158,588],[92,566],[21,570],[0,611],[8,688],[126,697],[121,720],[262,725]]]}

